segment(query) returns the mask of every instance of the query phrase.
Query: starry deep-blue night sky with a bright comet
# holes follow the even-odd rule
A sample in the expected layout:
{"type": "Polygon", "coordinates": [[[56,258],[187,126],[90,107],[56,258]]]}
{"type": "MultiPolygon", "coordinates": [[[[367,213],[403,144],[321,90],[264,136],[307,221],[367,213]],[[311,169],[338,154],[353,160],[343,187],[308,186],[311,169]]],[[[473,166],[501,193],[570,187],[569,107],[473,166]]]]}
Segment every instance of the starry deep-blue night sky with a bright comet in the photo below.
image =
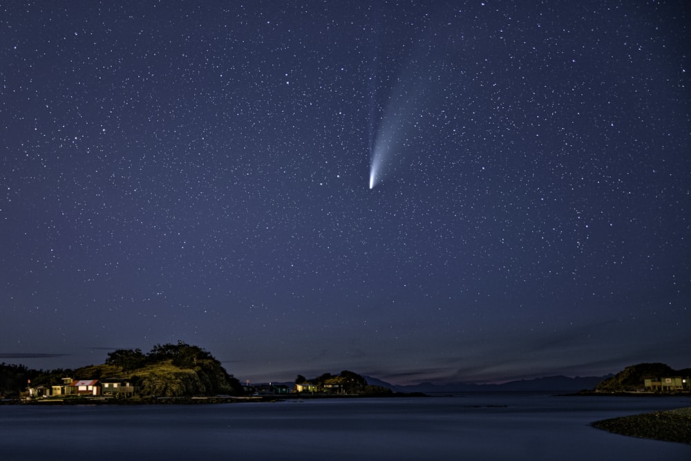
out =
{"type": "Polygon", "coordinates": [[[690,366],[690,25],[681,0],[0,2],[0,361],[690,366]]]}

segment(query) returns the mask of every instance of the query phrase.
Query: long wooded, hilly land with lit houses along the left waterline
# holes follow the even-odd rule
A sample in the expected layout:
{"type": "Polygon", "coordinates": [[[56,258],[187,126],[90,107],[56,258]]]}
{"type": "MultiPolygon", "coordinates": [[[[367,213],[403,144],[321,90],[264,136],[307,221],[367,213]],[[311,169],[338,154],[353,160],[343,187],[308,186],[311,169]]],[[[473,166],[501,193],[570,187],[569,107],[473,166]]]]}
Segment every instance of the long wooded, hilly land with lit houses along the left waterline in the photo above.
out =
{"type": "Polygon", "coordinates": [[[276,397],[396,396],[372,386],[357,373],[323,373],[313,379],[298,375],[294,384],[240,384],[210,352],[178,341],[157,344],[150,352],[118,349],[101,365],[76,370],[30,370],[0,364],[0,397],[12,403],[216,403],[272,400],[276,397]]]}

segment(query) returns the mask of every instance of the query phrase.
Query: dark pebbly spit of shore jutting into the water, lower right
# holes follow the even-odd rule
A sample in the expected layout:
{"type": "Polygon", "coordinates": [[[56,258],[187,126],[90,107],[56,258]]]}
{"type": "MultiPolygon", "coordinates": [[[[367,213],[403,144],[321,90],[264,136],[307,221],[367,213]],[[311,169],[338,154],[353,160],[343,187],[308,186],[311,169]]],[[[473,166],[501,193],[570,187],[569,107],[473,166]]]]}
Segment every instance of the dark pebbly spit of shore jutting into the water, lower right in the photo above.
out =
{"type": "Polygon", "coordinates": [[[691,407],[616,417],[593,426],[621,435],[691,444],[691,407]]]}

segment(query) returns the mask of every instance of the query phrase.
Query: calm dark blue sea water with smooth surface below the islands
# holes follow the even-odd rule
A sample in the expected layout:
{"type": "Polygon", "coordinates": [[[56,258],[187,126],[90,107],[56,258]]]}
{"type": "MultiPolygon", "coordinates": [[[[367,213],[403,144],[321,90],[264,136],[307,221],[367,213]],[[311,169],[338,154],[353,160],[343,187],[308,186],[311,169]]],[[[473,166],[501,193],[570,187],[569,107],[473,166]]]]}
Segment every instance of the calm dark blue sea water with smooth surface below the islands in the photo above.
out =
{"type": "Polygon", "coordinates": [[[589,426],[609,417],[682,406],[691,406],[691,400],[521,394],[191,406],[0,406],[0,459],[690,459],[689,445],[589,426]]]}

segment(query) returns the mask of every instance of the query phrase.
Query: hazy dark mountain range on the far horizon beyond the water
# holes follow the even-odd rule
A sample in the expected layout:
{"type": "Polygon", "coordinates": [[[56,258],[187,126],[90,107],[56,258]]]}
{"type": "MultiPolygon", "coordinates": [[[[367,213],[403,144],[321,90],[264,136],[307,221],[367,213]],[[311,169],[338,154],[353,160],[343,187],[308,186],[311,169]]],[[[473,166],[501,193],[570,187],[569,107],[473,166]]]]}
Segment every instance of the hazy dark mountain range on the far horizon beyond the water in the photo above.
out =
{"type": "Polygon", "coordinates": [[[520,381],[511,381],[502,384],[467,384],[467,383],[449,383],[449,384],[434,384],[431,382],[424,382],[415,384],[414,386],[396,386],[388,382],[381,381],[375,377],[366,376],[368,384],[375,386],[384,386],[390,388],[395,392],[422,392],[422,393],[454,393],[454,392],[515,392],[515,391],[549,391],[549,392],[578,392],[584,389],[592,390],[604,379],[612,377],[607,376],[587,376],[574,377],[567,376],[547,376],[536,379],[521,379],[520,381]]]}

